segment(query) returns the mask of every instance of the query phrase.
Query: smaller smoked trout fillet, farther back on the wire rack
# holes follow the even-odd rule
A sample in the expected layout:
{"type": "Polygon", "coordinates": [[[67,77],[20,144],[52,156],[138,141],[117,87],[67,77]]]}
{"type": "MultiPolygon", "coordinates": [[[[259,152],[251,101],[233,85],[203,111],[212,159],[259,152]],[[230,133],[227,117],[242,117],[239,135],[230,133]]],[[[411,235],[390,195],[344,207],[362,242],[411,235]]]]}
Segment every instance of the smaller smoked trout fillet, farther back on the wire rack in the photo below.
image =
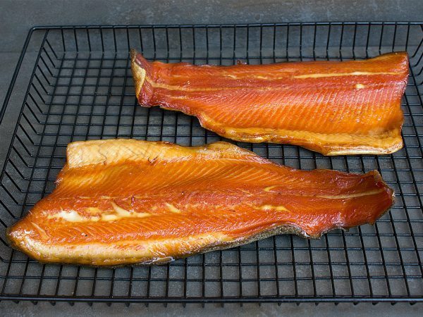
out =
{"type": "Polygon", "coordinates": [[[389,154],[403,147],[407,53],[364,61],[194,66],[131,51],[141,106],[197,116],[245,142],[289,143],[324,155],[389,154]]]}

